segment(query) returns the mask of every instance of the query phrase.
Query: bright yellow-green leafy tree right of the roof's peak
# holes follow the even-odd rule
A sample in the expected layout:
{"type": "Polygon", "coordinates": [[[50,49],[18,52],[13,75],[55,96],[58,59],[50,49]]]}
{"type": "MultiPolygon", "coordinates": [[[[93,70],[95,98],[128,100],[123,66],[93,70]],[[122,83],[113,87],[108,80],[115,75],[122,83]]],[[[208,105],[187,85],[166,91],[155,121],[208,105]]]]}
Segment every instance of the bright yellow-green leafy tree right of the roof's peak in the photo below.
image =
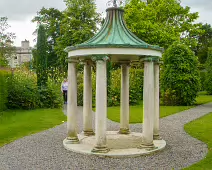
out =
{"type": "Polygon", "coordinates": [[[179,0],[131,0],[125,6],[129,29],[145,42],[165,49],[180,39],[194,48],[201,33],[201,25],[194,24],[197,18],[198,13],[182,7],[179,0]]]}

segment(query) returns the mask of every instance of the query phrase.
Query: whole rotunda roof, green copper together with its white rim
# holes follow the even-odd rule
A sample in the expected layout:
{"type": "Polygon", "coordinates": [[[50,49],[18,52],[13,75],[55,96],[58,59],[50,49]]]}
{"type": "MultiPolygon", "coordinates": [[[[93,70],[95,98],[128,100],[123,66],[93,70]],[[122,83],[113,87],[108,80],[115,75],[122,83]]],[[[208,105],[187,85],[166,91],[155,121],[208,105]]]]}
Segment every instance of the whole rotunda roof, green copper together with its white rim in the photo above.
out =
{"type": "Polygon", "coordinates": [[[108,8],[106,12],[107,16],[103,27],[93,38],[65,49],[66,52],[69,52],[69,57],[91,56],[92,54],[112,57],[128,55],[131,60],[130,56],[133,55],[162,56],[163,48],[142,41],[127,28],[123,9],[112,7],[108,8]]]}

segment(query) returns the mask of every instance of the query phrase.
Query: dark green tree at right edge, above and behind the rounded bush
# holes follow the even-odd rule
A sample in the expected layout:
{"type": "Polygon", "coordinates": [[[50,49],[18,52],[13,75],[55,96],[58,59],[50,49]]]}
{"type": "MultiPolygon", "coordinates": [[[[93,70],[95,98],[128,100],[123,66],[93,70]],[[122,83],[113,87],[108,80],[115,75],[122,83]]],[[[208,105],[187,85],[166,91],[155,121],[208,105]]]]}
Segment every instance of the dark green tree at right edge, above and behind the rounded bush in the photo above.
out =
{"type": "Polygon", "coordinates": [[[212,46],[212,27],[210,24],[202,25],[204,33],[198,36],[198,46],[196,54],[199,58],[199,62],[204,64],[208,57],[208,47],[212,46]]]}

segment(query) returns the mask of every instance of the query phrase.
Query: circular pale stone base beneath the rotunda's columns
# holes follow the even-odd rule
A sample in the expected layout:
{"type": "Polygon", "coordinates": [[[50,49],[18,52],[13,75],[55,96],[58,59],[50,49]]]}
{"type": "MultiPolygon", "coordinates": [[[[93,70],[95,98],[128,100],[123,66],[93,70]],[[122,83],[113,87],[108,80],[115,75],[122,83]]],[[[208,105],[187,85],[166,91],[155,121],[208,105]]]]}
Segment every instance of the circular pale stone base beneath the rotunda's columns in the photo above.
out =
{"type": "Polygon", "coordinates": [[[108,153],[91,152],[95,146],[95,136],[84,136],[83,133],[78,134],[79,144],[69,144],[67,139],[63,140],[63,145],[67,150],[82,153],[93,154],[103,157],[135,157],[140,155],[151,154],[162,150],[166,146],[164,140],[154,140],[154,148],[139,149],[142,141],[142,133],[131,132],[130,134],[120,134],[118,131],[107,131],[107,147],[108,153]]]}

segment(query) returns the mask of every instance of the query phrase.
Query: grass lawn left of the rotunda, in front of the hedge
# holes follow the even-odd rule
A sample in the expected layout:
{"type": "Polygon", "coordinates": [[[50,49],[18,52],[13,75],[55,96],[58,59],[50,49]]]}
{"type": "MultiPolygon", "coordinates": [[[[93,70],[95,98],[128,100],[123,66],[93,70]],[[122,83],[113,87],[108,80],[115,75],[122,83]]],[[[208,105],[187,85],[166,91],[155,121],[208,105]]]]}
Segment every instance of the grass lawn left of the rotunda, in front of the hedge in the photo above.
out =
{"type": "Polygon", "coordinates": [[[0,113],[0,147],[66,121],[61,109],[9,110],[0,113]]]}

